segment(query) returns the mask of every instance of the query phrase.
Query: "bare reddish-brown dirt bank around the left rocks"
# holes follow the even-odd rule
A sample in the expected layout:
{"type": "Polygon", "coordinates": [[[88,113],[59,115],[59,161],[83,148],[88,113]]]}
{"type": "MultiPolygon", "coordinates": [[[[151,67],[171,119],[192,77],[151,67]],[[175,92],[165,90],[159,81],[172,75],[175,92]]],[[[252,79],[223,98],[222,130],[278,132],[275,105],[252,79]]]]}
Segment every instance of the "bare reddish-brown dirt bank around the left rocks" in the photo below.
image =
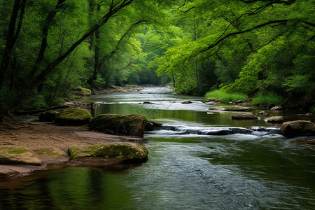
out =
{"type": "MultiPolygon", "coordinates": [[[[69,146],[103,144],[113,141],[139,142],[145,139],[116,136],[102,132],[92,132],[84,126],[57,126],[52,123],[36,122],[36,125],[22,125],[17,130],[1,127],[0,146],[22,146],[25,148],[56,147],[67,153],[69,146]]],[[[64,163],[67,158],[40,157],[44,165],[0,165],[0,175],[7,178],[25,176],[36,170],[47,168],[48,163],[64,163]]]]}

